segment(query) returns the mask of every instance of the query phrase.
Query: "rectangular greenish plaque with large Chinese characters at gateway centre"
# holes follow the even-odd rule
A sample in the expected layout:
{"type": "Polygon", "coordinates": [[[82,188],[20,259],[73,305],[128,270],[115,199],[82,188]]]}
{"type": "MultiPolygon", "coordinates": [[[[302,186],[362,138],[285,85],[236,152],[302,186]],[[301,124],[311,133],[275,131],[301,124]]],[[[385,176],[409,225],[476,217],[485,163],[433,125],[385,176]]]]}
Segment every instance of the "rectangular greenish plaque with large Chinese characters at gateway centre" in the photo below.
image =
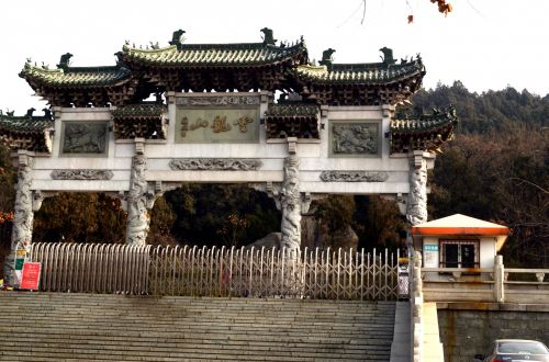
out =
{"type": "Polygon", "coordinates": [[[258,143],[259,105],[180,106],[176,143],[258,143]]]}

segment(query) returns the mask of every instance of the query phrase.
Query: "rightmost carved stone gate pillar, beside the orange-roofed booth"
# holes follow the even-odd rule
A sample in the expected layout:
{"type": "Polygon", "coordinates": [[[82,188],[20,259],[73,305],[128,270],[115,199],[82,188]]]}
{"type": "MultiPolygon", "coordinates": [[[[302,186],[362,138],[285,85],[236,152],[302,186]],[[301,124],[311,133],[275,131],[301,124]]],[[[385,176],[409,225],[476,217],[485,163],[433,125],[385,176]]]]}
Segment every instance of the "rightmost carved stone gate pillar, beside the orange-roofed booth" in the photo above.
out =
{"type": "Polygon", "coordinates": [[[406,220],[412,226],[427,222],[427,158],[423,151],[414,151],[411,159],[406,220]]]}

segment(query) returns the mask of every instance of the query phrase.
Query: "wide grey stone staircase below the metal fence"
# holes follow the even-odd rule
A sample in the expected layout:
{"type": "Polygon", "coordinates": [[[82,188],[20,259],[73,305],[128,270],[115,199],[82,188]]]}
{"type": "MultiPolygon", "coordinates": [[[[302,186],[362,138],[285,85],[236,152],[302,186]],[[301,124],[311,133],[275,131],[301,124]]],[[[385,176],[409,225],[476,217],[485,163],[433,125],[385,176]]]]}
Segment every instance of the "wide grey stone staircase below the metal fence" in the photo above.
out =
{"type": "Polygon", "coordinates": [[[394,302],[0,292],[0,361],[389,361],[394,302]]]}

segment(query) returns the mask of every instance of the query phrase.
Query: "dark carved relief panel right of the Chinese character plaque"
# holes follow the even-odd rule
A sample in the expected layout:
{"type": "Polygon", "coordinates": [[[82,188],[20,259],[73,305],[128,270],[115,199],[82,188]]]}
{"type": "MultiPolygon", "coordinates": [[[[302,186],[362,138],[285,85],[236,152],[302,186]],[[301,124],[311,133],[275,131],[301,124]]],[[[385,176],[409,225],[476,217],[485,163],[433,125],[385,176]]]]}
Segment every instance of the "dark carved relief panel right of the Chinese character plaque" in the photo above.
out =
{"type": "Polygon", "coordinates": [[[329,145],[329,157],[379,157],[381,155],[380,123],[332,121],[329,145]]]}

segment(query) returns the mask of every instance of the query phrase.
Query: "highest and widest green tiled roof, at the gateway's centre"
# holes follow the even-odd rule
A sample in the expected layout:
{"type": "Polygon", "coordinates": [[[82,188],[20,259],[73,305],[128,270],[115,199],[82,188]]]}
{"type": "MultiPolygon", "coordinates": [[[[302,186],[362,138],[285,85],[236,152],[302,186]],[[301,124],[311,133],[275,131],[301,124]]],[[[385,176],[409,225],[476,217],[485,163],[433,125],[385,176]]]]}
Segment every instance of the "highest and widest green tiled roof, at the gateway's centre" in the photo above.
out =
{"type": "Polygon", "coordinates": [[[293,46],[274,46],[264,43],[242,44],[181,44],[161,49],[137,49],[123,46],[124,60],[160,67],[226,67],[266,65],[295,58],[306,61],[303,42],[293,46]]]}

